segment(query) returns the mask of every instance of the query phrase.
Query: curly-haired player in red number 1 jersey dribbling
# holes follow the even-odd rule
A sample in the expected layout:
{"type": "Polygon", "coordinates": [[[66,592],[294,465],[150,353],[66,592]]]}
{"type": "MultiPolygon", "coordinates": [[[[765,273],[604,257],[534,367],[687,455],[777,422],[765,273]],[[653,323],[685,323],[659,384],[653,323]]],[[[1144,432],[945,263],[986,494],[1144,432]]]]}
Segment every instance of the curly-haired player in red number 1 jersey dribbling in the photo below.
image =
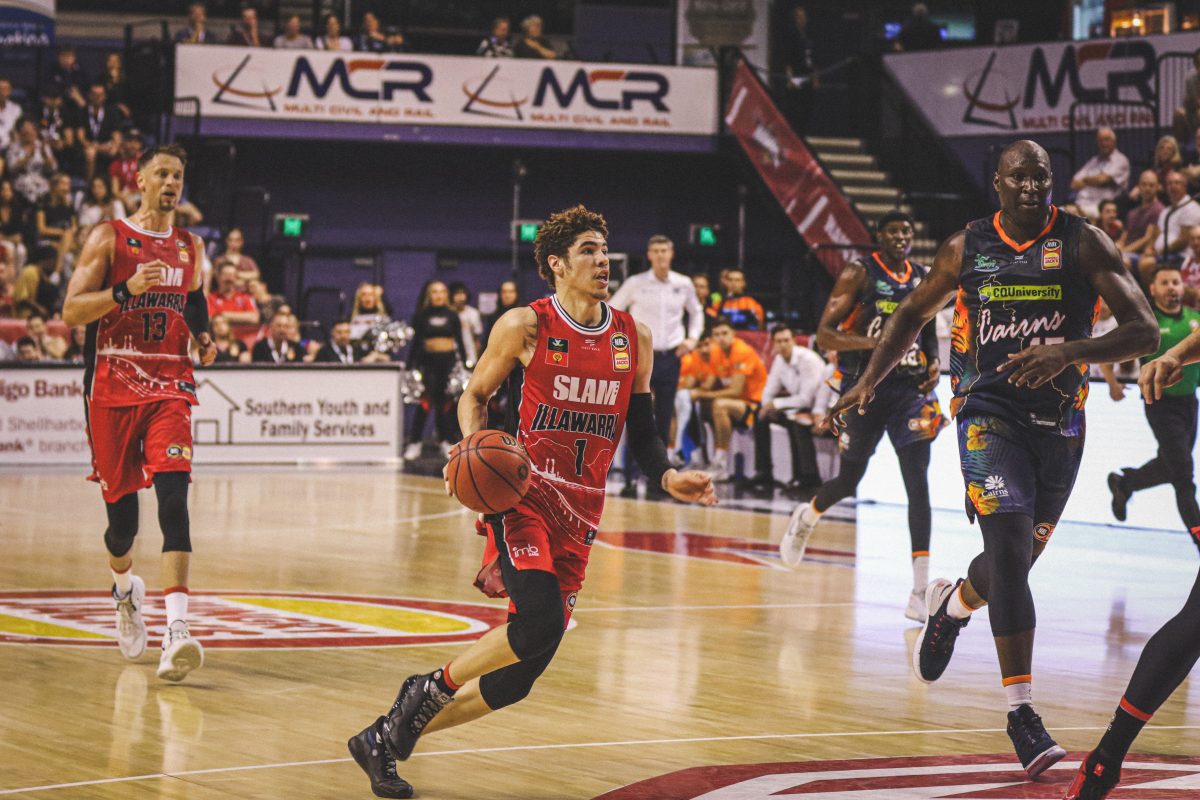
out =
{"type": "Polygon", "coordinates": [[[534,257],[553,294],[497,321],[458,403],[463,435],[486,425],[487,401],[524,368],[517,439],[529,455],[526,497],[486,517],[481,575],[493,559],[509,621],[432,673],[409,676],[391,710],[348,742],[380,798],[409,798],[396,775],[425,733],[523,699],[550,664],[575,608],[605,480],[629,423],[630,449],[653,485],[679,500],[716,503],[707,473],[672,469],[654,426],[649,329],[608,307],[608,228],[583,206],[551,215],[534,257]]]}

